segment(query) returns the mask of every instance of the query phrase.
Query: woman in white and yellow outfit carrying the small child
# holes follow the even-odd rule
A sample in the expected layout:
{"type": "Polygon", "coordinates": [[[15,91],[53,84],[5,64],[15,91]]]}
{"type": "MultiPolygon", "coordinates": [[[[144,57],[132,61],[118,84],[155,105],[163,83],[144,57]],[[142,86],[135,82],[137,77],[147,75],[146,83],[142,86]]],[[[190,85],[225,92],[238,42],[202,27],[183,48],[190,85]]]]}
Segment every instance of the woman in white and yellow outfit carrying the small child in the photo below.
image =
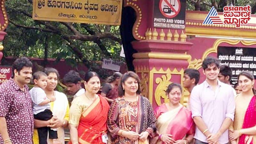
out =
{"type": "Polygon", "coordinates": [[[54,117],[47,121],[34,119],[35,130],[33,134],[33,143],[39,144],[39,136],[36,128],[49,126],[51,128],[57,128],[58,139],[48,139],[47,144],[65,144],[64,128],[68,126],[69,119],[68,98],[64,93],[54,90],[57,87],[60,78],[59,72],[56,69],[49,67],[45,68],[44,72],[47,75],[47,86],[44,89],[45,94],[50,99],[55,97],[55,101],[50,103],[54,117]]]}

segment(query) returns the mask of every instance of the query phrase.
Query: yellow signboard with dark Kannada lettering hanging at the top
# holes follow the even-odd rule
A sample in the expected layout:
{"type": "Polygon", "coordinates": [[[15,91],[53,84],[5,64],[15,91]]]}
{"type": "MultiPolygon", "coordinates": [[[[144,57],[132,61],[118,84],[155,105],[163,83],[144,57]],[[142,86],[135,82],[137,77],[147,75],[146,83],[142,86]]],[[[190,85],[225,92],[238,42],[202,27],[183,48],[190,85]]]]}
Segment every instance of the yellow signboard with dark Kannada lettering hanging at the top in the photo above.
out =
{"type": "Polygon", "coordinates": [[[120,25],[123,0],[34,0],[33,19],[120,25]]]}

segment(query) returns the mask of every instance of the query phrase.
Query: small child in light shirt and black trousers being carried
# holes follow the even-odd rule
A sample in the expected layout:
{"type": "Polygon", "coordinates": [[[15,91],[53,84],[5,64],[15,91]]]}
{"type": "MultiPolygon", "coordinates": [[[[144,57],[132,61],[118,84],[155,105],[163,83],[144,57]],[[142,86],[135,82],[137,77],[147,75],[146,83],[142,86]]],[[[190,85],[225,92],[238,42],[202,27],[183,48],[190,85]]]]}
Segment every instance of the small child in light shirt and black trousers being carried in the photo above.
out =
{"type": "MultiPolygon", "coordinates": [[[[53,117],[50,110],[50,102],[55,101],[55,98],[47,98],[44,89],[47,86],[47,75],[44,72],[38,71],[33,74],[35,86],[29,91],[33,101],[34,118],[38,120],[49,120],[53,117]]],[[[37,128],[39,136],[39,144],[47,144],[47,135],[49,132],[49,139],[57,139],[57,129],[50,127],[37,128]]]]}

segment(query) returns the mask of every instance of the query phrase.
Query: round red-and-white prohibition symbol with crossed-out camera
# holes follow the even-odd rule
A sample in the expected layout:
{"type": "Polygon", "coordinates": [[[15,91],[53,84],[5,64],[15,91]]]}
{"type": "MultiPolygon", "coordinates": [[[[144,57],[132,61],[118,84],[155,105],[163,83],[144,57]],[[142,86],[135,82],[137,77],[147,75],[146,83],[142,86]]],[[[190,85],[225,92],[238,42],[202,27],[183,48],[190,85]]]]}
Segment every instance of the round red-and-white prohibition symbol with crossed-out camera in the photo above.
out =
{"type": "Polygon", "coordinates": [[[164,17],[174,18],[180,12],[180,0],[160,0],[159,10],[164,17]]]}

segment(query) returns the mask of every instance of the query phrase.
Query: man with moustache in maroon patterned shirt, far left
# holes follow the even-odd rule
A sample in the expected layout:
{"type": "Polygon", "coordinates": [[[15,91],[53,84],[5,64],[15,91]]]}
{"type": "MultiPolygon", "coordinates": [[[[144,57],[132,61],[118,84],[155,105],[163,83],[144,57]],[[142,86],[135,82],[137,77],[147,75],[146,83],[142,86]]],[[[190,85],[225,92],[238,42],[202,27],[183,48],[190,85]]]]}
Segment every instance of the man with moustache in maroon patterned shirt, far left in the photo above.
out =
{"type": "Polygon", "coordinates": [[[27,86],[32,63],[20,57],[12,69],[13,78],[0,85],[0,144],[33,144],[33,103],[27,86]]]}

